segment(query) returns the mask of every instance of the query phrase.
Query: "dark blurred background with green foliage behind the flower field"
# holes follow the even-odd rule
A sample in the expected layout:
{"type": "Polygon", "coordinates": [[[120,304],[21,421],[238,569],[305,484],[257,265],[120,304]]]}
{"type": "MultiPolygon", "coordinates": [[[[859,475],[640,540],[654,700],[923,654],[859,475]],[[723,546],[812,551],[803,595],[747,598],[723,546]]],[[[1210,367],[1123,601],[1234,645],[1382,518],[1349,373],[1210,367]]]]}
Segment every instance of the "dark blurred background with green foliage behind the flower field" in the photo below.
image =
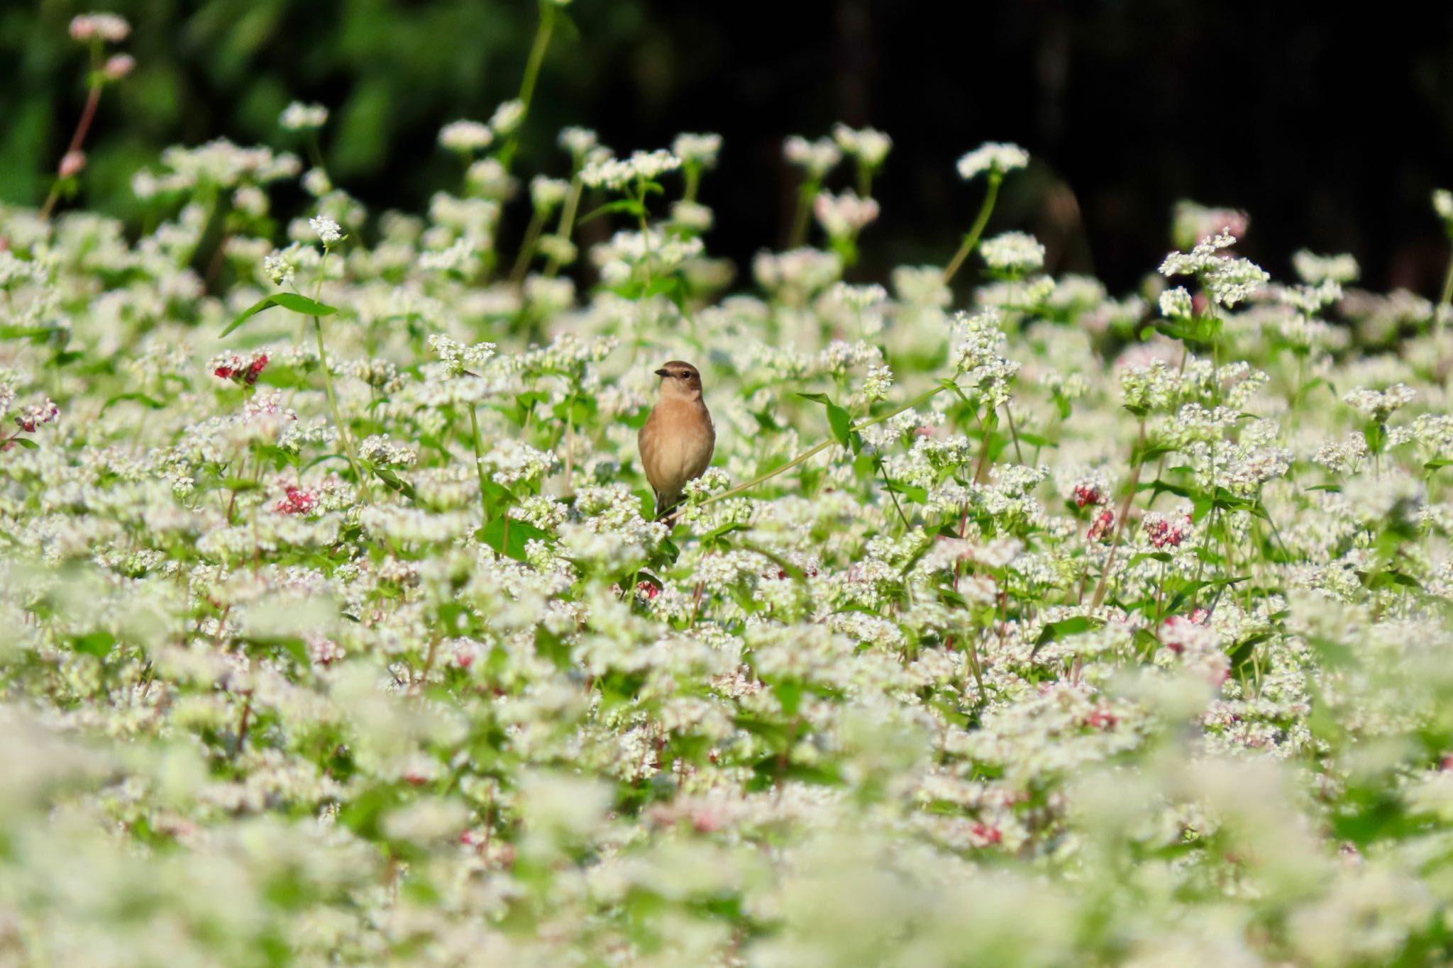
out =
{"type": "MultiPolygon", "coordinates": [[[[618,151],[681,131],[725,136],[702,197],[709,247],[745,266],[783,242],[790,134],[837,120],[895,141],[859,279],[943,263],[982,186],[953,163],[1014,141],[1035,167],[991,231],[1023,228],[1056,271],[1133,287],[1168,247],[1177,199],[1251,213],[1241,250],[1279,276],[1292,251],[1350,251],[1372,287],[1436,295],[1446,239],[1428,206],[1453,187],[1453,6],[1379,16],[1171,0],[940,4],[878,0],[575,0],[556,35],[516,171],[561,174],[567,123],[618,151]]],[[[0,200],[39,205],[84,99],[65,26],[90,7],[0,3],[0,200]]],[[[292,147],[292,99],[333,112],[324,154],[372,210],[420,210],[458,184],[436,147],[456,118],[511,97],[532,0],[116,0],[137,71],[108,90],[73,205],[135,219],[128,179],[169,144],[225,135],[292,147]]],[[[849,173],[840,173],[846,187],[849,173]]],[[[301,199],[299,199],[301,202],[301,199]]]]}

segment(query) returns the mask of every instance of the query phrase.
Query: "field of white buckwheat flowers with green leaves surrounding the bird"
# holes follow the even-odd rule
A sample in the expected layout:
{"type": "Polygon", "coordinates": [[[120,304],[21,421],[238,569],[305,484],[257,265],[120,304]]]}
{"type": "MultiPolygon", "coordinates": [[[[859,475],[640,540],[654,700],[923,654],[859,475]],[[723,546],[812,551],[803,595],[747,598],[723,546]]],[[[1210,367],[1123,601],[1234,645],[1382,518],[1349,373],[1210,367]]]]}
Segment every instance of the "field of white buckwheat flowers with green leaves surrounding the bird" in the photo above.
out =
{"type": "Polygon", "coordinates": [[[0,964],[1453,958],[1447,293],[1190,202],[1136,292],[1046,274],[995,142],[863,279],[841,126],[732,266],[729,145],[520,171],[526,81],[423,212],[305,104],[139,235],[78,149],[0,209],[0,964]]]}

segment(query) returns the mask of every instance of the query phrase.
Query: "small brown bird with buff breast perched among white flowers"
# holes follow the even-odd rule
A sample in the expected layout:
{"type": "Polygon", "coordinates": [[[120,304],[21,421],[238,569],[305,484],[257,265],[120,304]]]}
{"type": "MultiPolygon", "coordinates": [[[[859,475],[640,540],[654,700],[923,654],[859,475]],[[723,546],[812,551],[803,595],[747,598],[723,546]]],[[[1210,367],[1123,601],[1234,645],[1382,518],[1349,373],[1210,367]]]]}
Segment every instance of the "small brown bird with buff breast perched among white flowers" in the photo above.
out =
{"type": "Polygon", "coordinates": [[[687,480],[700,477],[716,450],[716,428],[702,401],[702,374],[690,363],[671,360],[655,372],[661,399],[636,440],[641,466],[655,491],[655,515],[664,517],[681,499],[687,480]]]}

